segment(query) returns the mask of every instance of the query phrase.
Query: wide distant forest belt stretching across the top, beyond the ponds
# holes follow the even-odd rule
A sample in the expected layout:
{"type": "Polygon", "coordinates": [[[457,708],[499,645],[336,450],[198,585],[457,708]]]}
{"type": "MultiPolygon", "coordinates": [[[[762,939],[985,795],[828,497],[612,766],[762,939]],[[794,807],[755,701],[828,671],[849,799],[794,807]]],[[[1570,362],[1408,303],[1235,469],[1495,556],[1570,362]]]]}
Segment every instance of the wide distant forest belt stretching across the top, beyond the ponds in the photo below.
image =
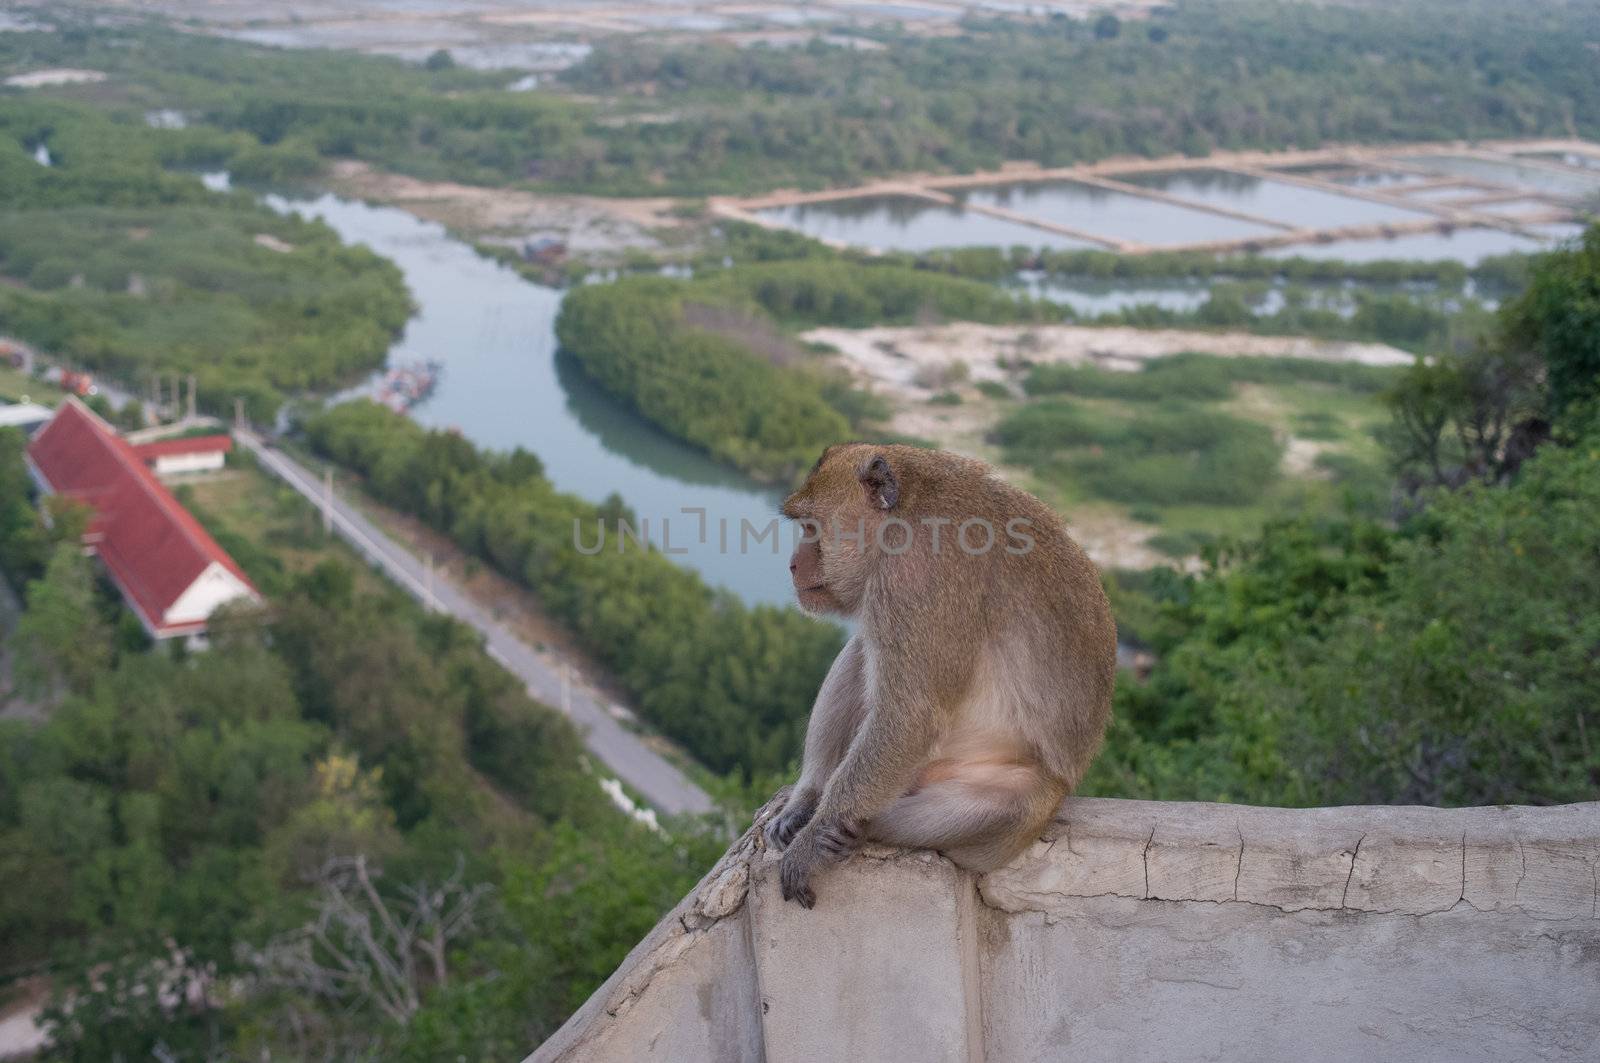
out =
{"type": "Polygon", "coordinates": [[[880,50],[619,38],[565,75],[602,102],[504,91],[504,72],[40,18],[61,29],[5,34],[0,69],[104,70],[110,83],[74,91],[182,110],[173,158],[253,178],[346,157],[485,184],[746,194],[1008,158],[1582,136],[1600,114],[1586,48],[1600,14],[1581,5],[1224,0],[1114,37],[1064,18],[869,32],[880,50]]]}

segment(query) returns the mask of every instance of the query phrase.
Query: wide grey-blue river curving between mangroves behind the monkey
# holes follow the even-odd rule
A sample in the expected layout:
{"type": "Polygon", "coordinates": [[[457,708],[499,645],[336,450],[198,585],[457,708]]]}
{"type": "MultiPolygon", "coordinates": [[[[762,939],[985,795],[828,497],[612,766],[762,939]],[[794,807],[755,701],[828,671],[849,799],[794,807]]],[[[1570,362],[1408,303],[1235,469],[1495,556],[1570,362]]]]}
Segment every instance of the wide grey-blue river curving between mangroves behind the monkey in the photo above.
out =
{"type": "MultiPolygon", "coordinates": [[[[685,551],[674,560],[707,583],[747,602],[792,602],[789,533],[781,544],[770,536],[739,549],[741,520],[765,530],[778,515],[779,491],[651,427],[558,357],[554,325],[562,291],[522,279],[442,226],[402,210],[333,195],[296,202],[269,195],[267,203],[320,218],[346,242],[365,243],[405,274],[419,311],[389,360],[443,363],[438,387],[411,411],[421,424],[458,429],[493,450],[523,447],[562,490],[590,501],[621,495],[650,522],[658,546],[667,519],[672,549],[685,551]],[[706,543],[698,541],[699,519],[683,514],[685,506],[706,509],[706,543]],[[720,528],[728,530],[726,552],[720,528]]],[[[608,549],[614,549],[611,532],[608,549]]],[[[594,528],[584,530],[582,543],[594,543],[594,528]]]]}

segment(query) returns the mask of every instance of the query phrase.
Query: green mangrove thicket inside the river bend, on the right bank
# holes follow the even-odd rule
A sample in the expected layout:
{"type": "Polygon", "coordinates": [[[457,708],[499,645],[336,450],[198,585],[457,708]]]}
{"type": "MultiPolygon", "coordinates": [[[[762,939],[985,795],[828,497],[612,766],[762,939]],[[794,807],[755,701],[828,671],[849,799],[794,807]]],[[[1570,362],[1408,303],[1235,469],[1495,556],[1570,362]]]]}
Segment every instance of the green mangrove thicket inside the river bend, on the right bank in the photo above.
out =
{"type": "Polygon", "coordinates": [[[954,315],[1059,314],[989,285],[898,266],[784,261],[698,280],[627,277],[571,293],[555,335],[611,395],[765,479],[816,461],[878,405],[816,365],[779,325],[867,325],[954,315]]]}

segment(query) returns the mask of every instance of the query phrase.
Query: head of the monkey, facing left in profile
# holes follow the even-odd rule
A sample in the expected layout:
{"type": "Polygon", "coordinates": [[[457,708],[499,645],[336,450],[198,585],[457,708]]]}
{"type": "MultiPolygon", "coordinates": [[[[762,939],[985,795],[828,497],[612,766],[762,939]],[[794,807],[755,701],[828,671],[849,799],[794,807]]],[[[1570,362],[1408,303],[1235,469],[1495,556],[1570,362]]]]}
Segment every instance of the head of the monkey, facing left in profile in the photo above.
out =
{"type": "Polygon", "coordinates": [[[784,499],[784,515],[802,525],[789,559],[800,608],[840,616],[861,612],[878,525],[914,490],[907,480],[914,453],[912,447],[872,443],[829,447],[800,490],[784,499]]]}

